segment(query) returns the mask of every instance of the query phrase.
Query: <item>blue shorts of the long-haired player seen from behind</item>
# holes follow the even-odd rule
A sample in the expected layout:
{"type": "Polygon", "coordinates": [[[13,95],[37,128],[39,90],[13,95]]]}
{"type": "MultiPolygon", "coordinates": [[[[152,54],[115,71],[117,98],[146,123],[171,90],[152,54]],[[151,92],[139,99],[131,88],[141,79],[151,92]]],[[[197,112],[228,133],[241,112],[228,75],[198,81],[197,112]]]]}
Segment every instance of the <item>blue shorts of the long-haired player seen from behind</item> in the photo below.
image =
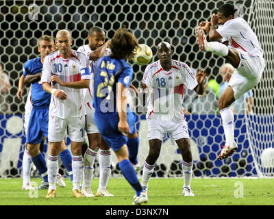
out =
{"type": "MultiPolygon", "coordinates": [[[[118,129],[118,113],[95,112],[94,119],[99,133],[113,151],[118,151],[124,144],[127,143],[127,136],[125,136],[118,129]]],[[[130,133],[135,132],[135,119],[136,118],[133,112],[127,112],[127,123],[129,124],[130,133]]]]}

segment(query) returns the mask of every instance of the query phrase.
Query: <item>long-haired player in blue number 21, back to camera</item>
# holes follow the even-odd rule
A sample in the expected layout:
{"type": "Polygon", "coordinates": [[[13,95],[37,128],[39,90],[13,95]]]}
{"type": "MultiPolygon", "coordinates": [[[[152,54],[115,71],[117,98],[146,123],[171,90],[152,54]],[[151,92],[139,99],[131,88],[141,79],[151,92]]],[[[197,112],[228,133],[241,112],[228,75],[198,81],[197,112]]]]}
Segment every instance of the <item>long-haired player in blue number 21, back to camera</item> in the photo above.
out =
{"type": "Polygon", "coordinates": [[[137,45],[135,36],[127,29],[115,31],[110,42],[111,54],[101,57],[95,67],[93,99],[99,133],[113,149],[125,179],[136,191],[134,205],[148,200],[129,161],[127,137],[123,134],[132,133],[134,129],[134,115],[128,112],[127,106],[127,88],[133,70],[125,60],[131,57],[137,45]]]}

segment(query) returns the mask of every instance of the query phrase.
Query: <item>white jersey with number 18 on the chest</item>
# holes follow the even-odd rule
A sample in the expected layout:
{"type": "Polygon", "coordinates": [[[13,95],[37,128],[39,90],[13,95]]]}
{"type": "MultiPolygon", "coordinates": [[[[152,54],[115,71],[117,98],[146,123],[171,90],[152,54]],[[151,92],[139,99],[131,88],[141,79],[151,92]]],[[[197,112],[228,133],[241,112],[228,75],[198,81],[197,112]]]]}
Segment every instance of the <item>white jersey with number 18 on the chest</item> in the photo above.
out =
{"type": "Polygon", "coordinates": [[[184,115],[184,86],[193,90],[198,82],[187,64],[172,60],[171,70],[163,70],[160,60],[145,69],[142,83],[149,87],[147,118],[152,113],[184,115]]]}

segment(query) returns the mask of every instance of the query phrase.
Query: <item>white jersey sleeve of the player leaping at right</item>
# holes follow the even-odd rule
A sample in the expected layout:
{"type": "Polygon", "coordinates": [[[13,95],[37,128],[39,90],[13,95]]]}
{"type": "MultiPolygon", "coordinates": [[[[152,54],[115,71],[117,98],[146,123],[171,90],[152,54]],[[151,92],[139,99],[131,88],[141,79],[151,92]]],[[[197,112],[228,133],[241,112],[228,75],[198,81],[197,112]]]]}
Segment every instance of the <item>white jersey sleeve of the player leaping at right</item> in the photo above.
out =
{"type": "Polygon", "coordinates": [[[239,28],[241,23],[238,20],[232,19],[221,25],[216,31],[223,37],[236,37],[240,34],[239,28]]]}

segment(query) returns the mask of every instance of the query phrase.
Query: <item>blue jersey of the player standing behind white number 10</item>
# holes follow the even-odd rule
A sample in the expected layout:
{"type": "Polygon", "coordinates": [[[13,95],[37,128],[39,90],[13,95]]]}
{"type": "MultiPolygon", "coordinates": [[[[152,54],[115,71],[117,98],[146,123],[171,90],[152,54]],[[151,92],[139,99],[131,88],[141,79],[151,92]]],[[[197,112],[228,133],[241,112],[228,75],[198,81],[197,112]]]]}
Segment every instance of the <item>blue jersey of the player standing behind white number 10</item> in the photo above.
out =
{"type": "MultiPolygon", "coordinates": [[[[28,60],[23,69],[23,75],[36,75],[42,73],[42,62],[40,57],[36,57],[32,60],[28,60]]],[[[45,92],[42,88],[42,84],[35,82],[32,84],[32,105],[34,107],[45,107],[51,103],[51,94],[45,92]]]]}

